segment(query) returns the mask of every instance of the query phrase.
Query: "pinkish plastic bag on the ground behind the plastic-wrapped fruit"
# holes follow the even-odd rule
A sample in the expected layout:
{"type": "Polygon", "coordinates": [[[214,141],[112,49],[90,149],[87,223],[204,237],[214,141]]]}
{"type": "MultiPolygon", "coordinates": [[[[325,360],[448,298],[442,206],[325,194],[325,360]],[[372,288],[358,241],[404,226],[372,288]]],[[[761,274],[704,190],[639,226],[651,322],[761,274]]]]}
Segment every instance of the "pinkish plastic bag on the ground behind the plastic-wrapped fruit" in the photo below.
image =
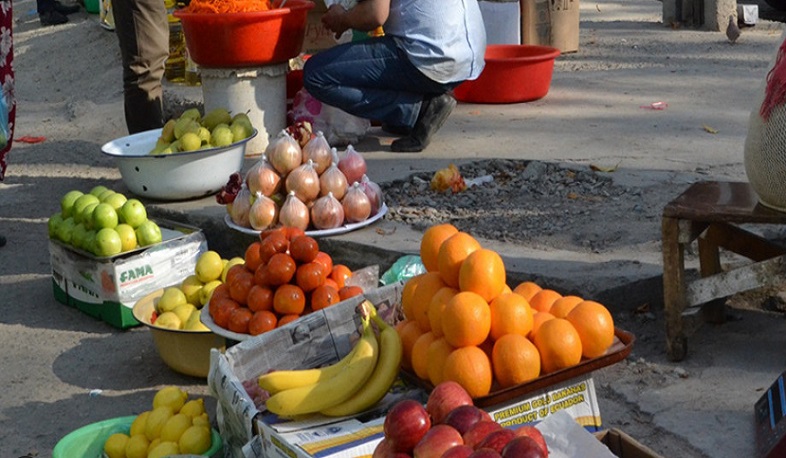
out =
{"type": "Polygon", "coordinates": [[[371,127],[371,122],[368,119],[353,116],[336,107],[324,104],[305,89],[301,89],[295,94],[289,119],[292,122],[310,122],[314,132],[322,131],[331,146],[357,143],[371,127]]]}

